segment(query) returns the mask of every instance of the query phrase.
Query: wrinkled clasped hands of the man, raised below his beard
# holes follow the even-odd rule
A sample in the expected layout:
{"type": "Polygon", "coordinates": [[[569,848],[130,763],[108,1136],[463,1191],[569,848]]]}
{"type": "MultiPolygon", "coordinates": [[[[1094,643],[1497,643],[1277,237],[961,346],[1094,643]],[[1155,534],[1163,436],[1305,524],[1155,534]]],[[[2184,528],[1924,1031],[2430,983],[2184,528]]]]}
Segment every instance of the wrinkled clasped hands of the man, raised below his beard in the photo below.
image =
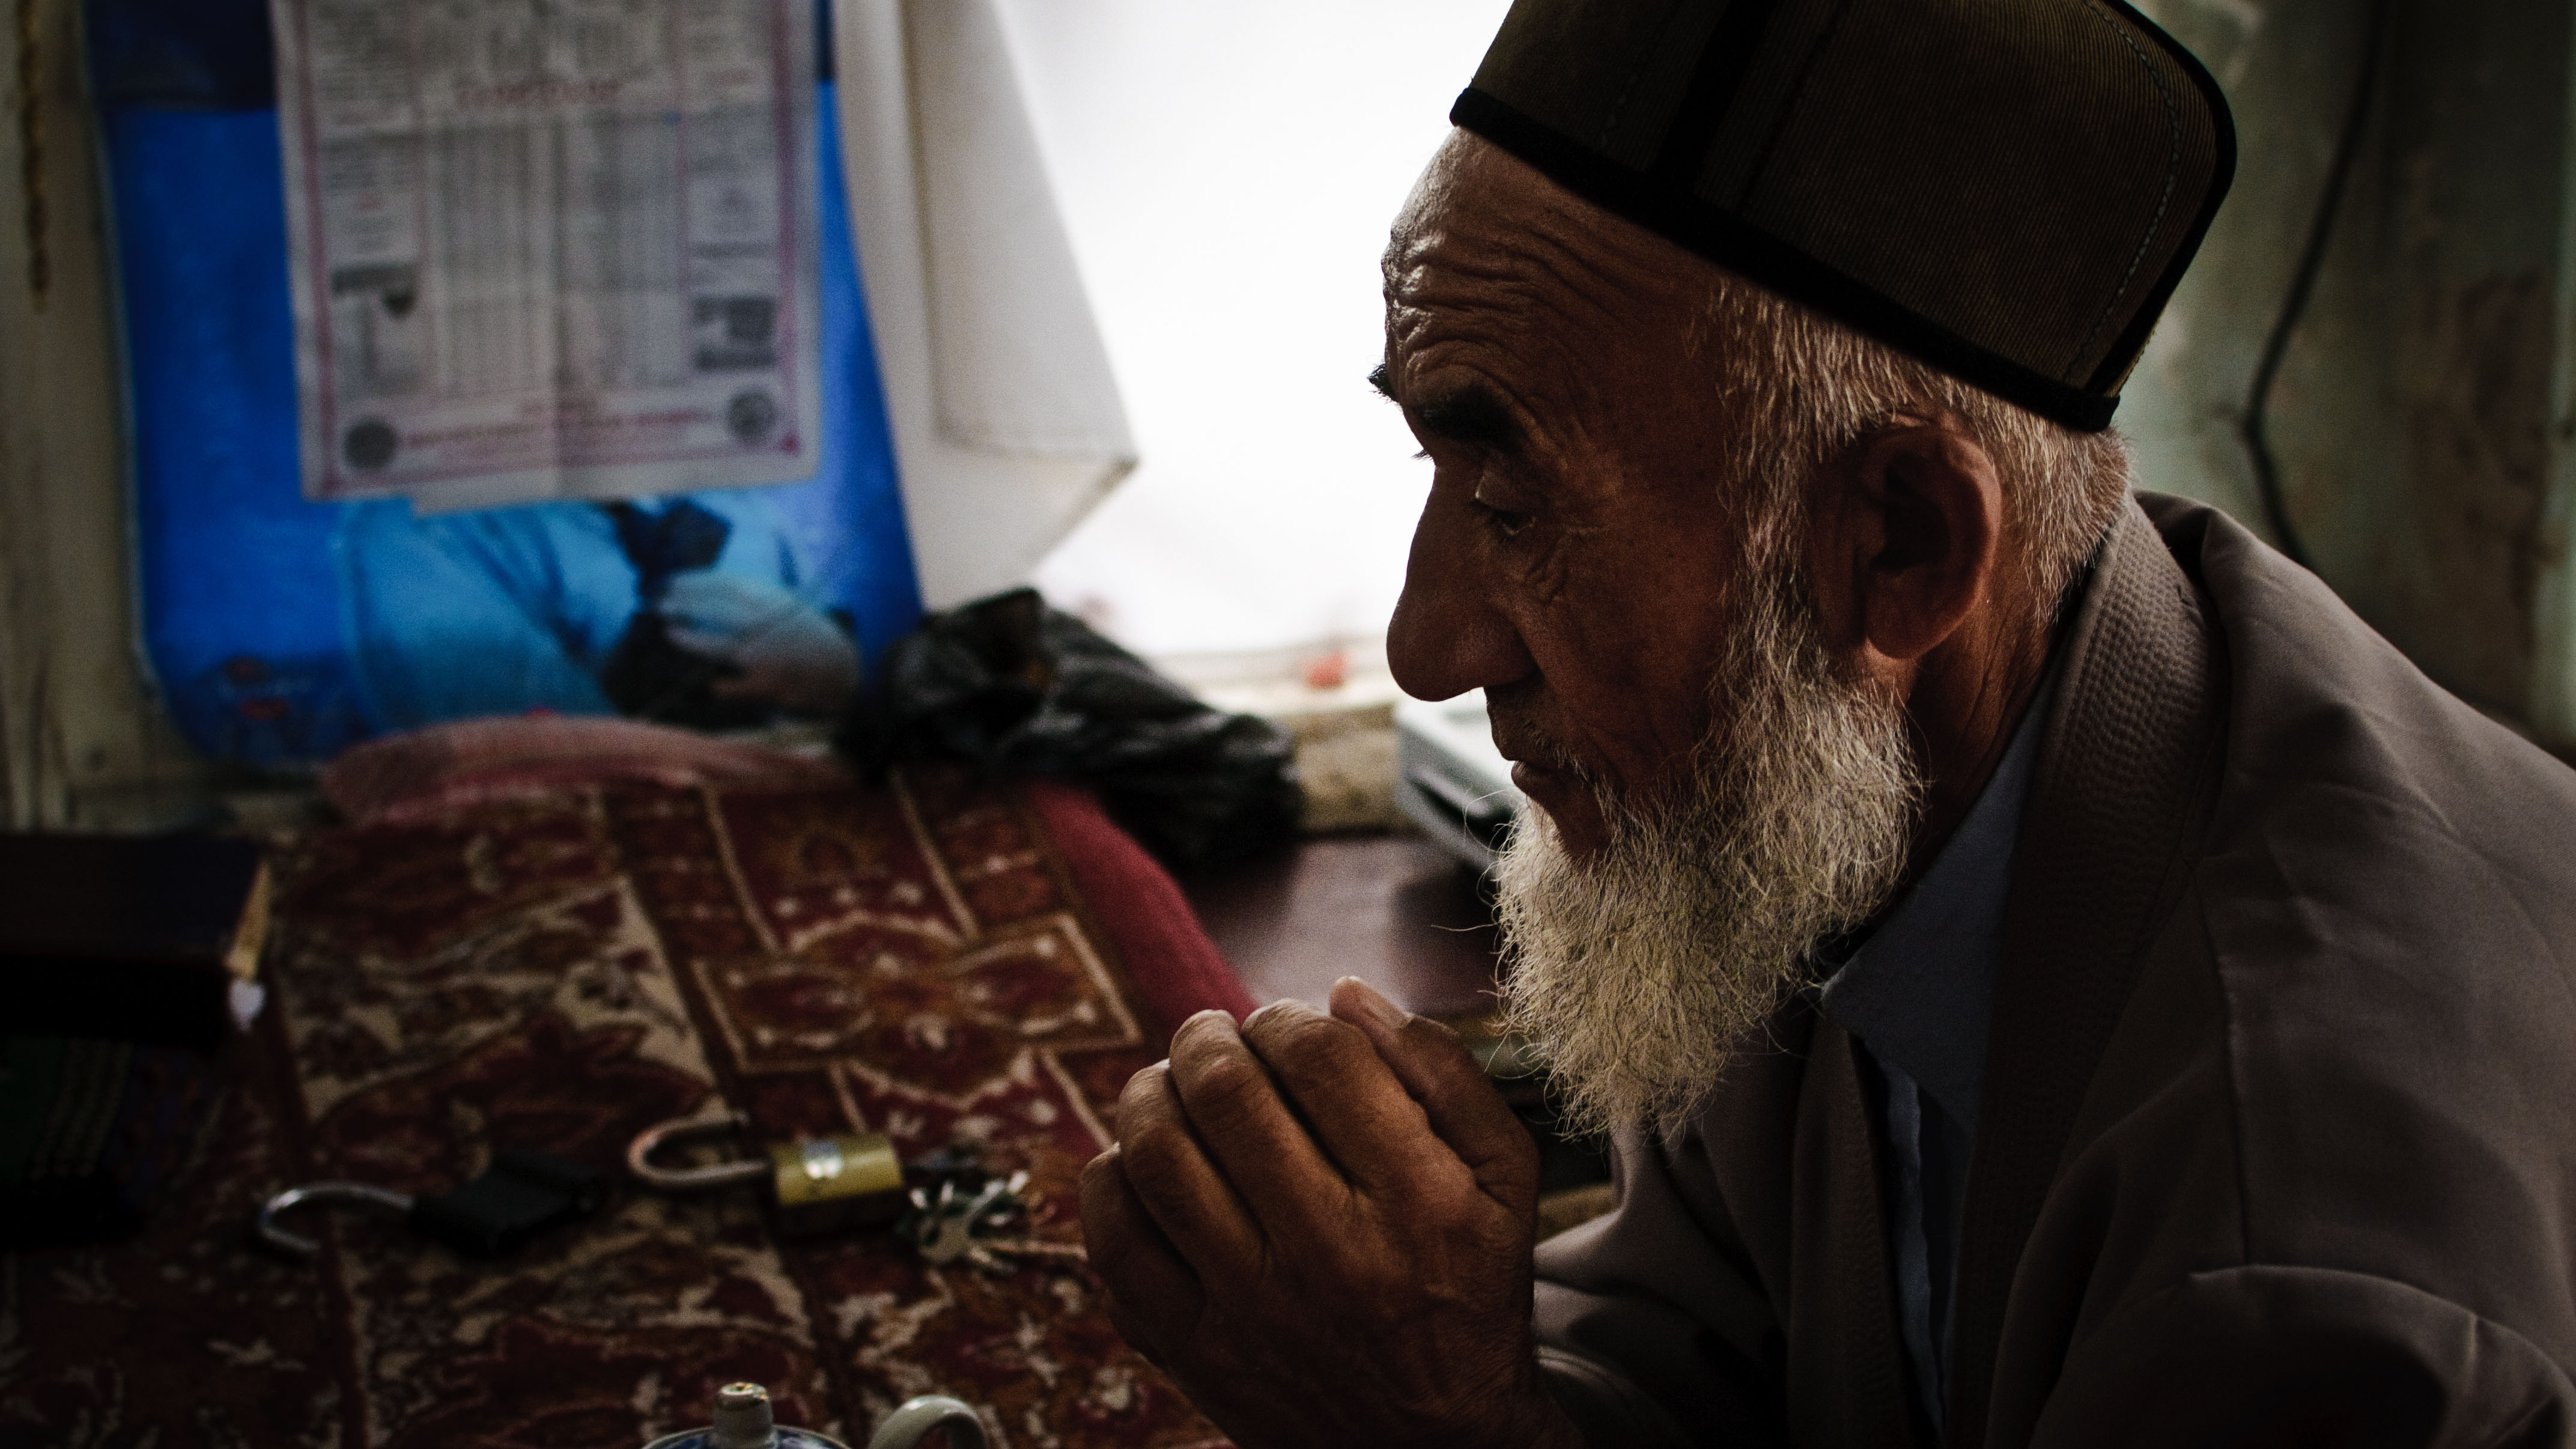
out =
{"type": "Polygon", "coordinates": [[[1538,1147],[1445,1026],[1193,1016],[1082,1173],[1110,1318],[1244,1449],[1574,1444],[1538,1382],[1538,1147]]]}

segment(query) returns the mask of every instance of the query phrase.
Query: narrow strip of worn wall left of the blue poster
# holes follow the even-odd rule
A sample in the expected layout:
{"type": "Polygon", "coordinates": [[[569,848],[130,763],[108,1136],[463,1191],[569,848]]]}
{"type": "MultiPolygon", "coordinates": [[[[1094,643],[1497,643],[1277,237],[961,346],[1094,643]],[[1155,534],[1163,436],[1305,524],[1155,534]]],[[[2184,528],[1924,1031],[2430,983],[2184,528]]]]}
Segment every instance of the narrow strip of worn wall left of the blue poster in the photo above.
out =
{"type": "Polygon", "coordinates": [[[75,0],[0,0],[0,822],[155,828],[204,766],[152,709],[75,0]]]}

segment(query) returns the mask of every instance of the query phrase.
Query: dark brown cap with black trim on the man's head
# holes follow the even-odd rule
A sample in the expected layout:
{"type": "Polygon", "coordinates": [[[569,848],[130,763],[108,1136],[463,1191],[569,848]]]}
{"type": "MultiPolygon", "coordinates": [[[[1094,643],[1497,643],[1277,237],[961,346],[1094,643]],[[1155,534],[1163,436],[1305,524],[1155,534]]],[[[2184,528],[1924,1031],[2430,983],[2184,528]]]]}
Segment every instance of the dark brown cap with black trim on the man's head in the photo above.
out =
{"type": "Polygon", "coordinates": [[[1450,121],[2081,431],[2236,173],[2218,83],[2120,0],[1515,0],[1450,121]]]}

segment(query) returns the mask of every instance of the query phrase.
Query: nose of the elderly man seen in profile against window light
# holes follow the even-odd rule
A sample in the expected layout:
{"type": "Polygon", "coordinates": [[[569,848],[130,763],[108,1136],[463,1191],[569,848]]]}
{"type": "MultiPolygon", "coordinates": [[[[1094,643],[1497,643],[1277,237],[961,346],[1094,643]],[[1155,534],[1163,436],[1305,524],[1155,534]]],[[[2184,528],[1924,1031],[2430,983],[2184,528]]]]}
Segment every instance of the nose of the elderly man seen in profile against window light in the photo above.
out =
{"type": "Polygon", "coordinates": [[[1404,596],[1386,624],[1386,665],[1414,699],[1450,699],[1538,668],[1520,629],[1494,606],[1473,526],[1445,487],[1432,487],[1414,523],[1404,596]]]}

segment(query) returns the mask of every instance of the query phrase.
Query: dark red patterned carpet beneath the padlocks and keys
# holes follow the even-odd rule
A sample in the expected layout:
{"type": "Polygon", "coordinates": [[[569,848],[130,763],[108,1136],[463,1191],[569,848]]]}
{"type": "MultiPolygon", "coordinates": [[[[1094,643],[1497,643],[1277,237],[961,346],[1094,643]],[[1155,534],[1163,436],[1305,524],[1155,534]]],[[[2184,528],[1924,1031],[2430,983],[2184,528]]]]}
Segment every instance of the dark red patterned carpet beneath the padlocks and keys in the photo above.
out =
{"type": "Polygon", "coordinates": [[[1216,1434],[1074,1271],[933,1269],[889,1235],[781,1243],[750,1191],[608,1209],[474,1263],[309,1214],[319,1263],[250,1250],[270,1191],[438,1191],[492,1147],[611,1168],[647,1124],[976,1140],[1033,1232],[1128,1073],[1247,1000],[1170,882],[1077,794],[613,786],[307,835],[278,856],[273,1006],[180,1201],[142,1240],[0,1258],[0,1444],[626,1449],[757,1379],[866,1441],[907,1395],[994,1444],[1216,1434]]]}

